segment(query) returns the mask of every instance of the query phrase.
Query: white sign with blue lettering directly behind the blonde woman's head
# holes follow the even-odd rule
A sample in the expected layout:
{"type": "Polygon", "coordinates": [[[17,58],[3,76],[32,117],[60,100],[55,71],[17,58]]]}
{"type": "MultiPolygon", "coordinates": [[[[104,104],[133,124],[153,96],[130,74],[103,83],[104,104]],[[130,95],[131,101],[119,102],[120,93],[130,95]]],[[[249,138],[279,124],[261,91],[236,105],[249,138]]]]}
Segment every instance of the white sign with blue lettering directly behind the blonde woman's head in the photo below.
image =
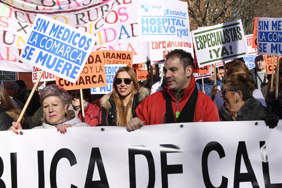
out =
{"type": "Polygon", "coordinates": [[[126,66],[126,64],[121,64],[121,65],[107,65],[105,64],[105,73],[106,73],[106,79],[107,79],[107,86],[106,87],[95,87],[95,88],[90,88],[91,94],[108,94],[112,92],[112,82],[114,79],[114,76],[118,69],[120,67],[126,66]]]}

